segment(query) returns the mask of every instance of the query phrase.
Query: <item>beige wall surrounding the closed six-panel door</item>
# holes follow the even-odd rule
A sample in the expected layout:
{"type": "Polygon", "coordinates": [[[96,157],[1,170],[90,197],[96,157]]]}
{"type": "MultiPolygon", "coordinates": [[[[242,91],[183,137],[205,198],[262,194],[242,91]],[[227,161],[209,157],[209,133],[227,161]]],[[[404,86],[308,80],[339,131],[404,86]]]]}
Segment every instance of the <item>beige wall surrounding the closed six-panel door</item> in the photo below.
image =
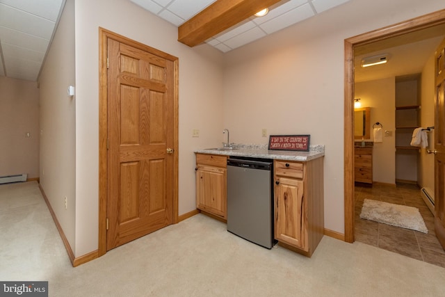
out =
{"type": "Polygon", "coordinates": [[[195,207],[193,150],[220,143],[223,54],[127,0],[76,0],[76,257],[97,249],[99,26],[179,58],[179,215],[195,207]],[[192,138],[192,130],[200,137],[192,138]]]}

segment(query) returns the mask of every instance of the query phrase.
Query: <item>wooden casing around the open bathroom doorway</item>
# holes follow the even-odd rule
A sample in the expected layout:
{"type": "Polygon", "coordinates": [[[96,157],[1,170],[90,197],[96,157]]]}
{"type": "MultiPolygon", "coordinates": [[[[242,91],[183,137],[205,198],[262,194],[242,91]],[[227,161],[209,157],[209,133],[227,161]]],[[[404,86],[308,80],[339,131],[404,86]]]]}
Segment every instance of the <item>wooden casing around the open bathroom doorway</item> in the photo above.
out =
{"type": "Polygon", "coordinates": [[[345,97],[344,97],[344,211],[345,238],[354,242],[354,47],[366,45],[378,40],[385,40],[405,33],[445,24],[445,9],[428,15],[377,29],[369,33],[348,38],[345,47],[345,97]]]}

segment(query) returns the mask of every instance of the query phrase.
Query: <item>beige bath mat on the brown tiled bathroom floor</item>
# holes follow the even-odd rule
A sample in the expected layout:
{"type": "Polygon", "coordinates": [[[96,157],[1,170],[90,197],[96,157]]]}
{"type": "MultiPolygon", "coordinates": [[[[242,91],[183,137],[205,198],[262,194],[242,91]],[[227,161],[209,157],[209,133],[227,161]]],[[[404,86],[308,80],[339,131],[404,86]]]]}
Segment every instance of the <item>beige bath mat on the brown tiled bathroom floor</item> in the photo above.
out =
{"type": "Polygon", "coordinates": [[[416,207],[365,199],[360,218],[428,233],[425,222],[416,207]]]}

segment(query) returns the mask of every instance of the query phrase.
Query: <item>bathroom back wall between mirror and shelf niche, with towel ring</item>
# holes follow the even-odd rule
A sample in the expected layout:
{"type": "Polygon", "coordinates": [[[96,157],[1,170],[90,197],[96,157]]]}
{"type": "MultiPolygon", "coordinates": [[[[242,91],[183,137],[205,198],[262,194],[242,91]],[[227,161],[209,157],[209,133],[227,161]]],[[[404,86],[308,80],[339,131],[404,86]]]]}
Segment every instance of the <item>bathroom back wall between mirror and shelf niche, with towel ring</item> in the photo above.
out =
{"type": "Polygon", "coordinates": [[[392,136],[382,137],[382,143],[373,146],[373,181],[396,184],[396,79],[378,79],[355,83],[355,98],[360,98],[364,107],[371,107],[371,141],[374,140],[372,126],[375,122],[383,125],[383,131],[391,131],[392,136]]]}

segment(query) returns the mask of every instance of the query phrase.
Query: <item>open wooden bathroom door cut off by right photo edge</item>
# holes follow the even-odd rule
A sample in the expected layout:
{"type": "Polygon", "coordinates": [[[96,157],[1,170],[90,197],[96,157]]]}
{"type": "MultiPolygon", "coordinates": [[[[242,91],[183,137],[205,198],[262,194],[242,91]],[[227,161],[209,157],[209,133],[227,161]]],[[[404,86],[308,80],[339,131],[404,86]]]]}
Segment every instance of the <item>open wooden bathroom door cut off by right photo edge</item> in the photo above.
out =
{"type": "Polygon", "coordinates": [[[435,53],[435,232],[445,248],[445,40],[435,53]]]}

